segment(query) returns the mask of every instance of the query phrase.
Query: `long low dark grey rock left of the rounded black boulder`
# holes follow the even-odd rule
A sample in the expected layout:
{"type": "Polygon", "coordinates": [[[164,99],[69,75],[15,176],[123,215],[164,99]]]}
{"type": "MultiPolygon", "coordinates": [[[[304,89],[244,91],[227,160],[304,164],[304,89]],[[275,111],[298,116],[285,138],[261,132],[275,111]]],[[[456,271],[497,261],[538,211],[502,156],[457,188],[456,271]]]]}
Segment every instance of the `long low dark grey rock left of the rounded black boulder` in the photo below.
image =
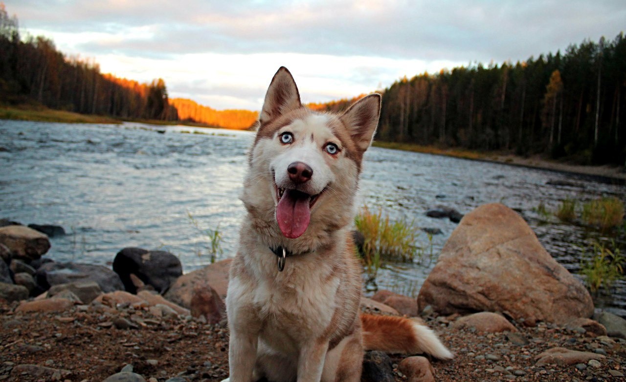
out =
{"type": "Polygon", "coordinates": [[[101,265],[46,263],[37,269],[35,276],[37,284],[44,290],[75,281],[95,281],[105,293],[124,289],[120,276],[101,265]]]}

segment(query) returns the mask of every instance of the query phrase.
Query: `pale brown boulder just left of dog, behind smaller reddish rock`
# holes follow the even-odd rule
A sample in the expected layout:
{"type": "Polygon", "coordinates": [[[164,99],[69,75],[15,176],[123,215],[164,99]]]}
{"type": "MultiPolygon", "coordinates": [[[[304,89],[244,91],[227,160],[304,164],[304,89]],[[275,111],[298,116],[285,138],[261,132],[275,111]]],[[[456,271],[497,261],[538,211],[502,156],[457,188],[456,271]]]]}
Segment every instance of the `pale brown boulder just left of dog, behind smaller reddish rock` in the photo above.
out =
{"type": "Polygon", "coordinates": [[[205,268],[183,274],[163,296],[173,303],[183,306],[183,308],[191,309],[195,286],[207,283],[220,298],[226,298],[231,261],[232,259],[225,259],[209,264],[205,268]]]}

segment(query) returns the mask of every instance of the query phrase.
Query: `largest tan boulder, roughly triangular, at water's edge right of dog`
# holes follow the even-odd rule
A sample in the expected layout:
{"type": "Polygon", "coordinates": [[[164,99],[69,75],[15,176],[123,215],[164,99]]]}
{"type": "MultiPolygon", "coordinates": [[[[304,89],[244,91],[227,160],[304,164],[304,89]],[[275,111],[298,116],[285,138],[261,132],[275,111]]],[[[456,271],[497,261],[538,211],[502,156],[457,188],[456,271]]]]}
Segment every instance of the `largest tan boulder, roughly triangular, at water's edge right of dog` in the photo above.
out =
{"type": "Polygon", "coordinates": [[[441,314],[492,311],[533,325],[593,314],[587,289],[510,208],[485,204],[454,229],[418,295],[441,314]]]}

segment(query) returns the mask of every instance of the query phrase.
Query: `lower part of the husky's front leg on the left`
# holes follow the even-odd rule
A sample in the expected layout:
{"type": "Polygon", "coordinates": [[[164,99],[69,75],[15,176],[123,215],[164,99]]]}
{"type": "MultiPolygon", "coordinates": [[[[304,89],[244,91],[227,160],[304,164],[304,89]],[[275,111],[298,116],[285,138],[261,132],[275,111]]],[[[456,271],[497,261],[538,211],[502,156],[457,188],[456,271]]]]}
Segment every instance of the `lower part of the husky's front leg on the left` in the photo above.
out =
{"type": "Polygon", "coordinates": [[[230,331],[228,369],[230,382],[251,382],[257,361],[259,336],[250,331],[230,331]]]}

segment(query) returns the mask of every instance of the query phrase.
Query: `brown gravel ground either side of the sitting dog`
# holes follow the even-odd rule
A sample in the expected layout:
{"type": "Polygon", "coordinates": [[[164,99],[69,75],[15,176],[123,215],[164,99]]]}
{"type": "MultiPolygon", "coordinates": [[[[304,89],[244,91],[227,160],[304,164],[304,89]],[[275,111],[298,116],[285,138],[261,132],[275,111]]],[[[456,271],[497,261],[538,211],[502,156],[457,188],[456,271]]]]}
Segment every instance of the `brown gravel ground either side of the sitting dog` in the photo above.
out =
{"type": "MultiPolygon", "coordinates": [[[[225,324],[160,318],[147,309],[76,306],[63,313],[13,313],[0,304],[0,380],[102,381],[131,364],[147,381],[220,381],[228,374],[225,324]],[[24,366],[35,365],[35,366],[24,366]],[[46,374],[48,373],[48,374],[46,374]]],[[[625,381],[626,341],[568,331],[550,324],[518,333],[451,329],[449,319],[426,318],[456,354],[431,361],[437,381],[625,381]],[[536,366],[546,349],[605,354],[599,362],[536,366]]],[[[391,356],[394,364],[403,358],[391,356]]],[[[396,371],[397,381],[407,378],[396,371]]]]}

